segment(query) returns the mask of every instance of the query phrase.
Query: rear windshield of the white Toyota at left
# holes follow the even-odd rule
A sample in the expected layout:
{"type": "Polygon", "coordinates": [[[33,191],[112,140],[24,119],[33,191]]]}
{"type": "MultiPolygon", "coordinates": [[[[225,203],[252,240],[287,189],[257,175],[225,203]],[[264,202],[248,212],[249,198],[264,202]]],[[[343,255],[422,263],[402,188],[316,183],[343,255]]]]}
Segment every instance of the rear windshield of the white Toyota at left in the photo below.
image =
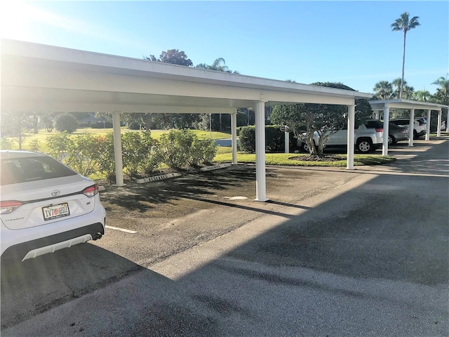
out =
{"type": "Polygon", "coordinates": [[[78,173],[51,157],[8,158],[0,161],[0,185],[74,176],[78,173]]]}

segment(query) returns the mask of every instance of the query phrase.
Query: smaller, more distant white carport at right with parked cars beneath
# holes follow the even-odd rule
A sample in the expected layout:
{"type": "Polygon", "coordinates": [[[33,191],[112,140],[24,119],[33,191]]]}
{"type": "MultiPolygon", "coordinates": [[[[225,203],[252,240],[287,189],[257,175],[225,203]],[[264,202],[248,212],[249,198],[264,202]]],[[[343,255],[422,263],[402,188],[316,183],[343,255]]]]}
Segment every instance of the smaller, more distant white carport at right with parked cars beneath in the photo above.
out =
{"type": "Polygon", "coordinates": [[[439,126],[441,125],[441,111],[443,108],[448,108],[448,105],[442,105],[437,103],[428,102],[417,102],[415,100],[370,100],[371,108],[375,114],[375,118],[379,119],[380,112],[383,112],[384,119],[384,143],[382,147],[382,155],[388,155],[388,132],[389,132],[389,111],[390,109],[397,110],[410,110],[410,124],[408,124],[409,134],[408,134],[408,146],[413,147],[413,123],[415,121],[415,110],[425,110],[427,111],[427,130],[426,130],[426,140],[430,138],[430,117],[431,111],[438,112],[438,124],[436,136],[441,136],[441,130],[439,126]],[[387,135],[387,136],[385,136],[387,135]]]}

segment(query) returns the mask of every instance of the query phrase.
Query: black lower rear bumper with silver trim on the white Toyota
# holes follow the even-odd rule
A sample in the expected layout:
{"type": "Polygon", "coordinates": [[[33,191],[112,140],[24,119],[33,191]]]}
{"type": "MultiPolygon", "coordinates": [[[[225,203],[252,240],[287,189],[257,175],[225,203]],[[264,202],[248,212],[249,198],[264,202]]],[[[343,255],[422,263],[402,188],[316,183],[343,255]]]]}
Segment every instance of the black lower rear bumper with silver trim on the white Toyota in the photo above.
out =
{"type": "Polygon", "coordinates": [[[1,259],[26,260],[27,258],[35,258],[45,253],[52,253],[59,249],[74,246],[81,242],[86,242],[98,236],[98,233],[105,234],[105,227],[102,223],[93,223],[74,230],[68,230],[58,234],[53,234],[41,239],[34,239],[20,244],[9,246],[1,259]],[[89,237],[90,236],[90,237],[89,237]]]}

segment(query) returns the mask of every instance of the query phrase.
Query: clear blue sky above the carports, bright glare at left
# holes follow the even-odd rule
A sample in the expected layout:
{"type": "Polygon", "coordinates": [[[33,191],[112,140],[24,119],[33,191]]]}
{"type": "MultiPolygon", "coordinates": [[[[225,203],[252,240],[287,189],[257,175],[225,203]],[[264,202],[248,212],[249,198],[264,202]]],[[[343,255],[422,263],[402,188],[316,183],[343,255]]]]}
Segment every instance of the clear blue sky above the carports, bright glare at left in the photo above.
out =
{"type": "Polygon", "coordinates": [[[449,72],[449,1],[2,1],[1,37],[142,58],[185,51],[194,65],[224,58],[231,70],[302,84],[341,82],[373,92],[401,77],[415,91],[449,72]]]}

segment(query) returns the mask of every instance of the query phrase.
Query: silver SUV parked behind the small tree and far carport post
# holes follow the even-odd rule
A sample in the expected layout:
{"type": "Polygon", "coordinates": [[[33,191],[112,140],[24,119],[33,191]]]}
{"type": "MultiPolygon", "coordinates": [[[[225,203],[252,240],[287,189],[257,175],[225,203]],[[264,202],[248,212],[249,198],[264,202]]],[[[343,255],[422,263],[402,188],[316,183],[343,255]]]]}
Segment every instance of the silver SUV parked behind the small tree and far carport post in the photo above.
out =
{"type": "MultiPolygon", "coordinates": [[[[347,128],[333,133],[325,144],[327,149],[347,147],[347,128]]],[[[356,151],[361,153],[372,152],[382,147],[384,136],[384,124],[379,119],[369,119],[358,126],[354,131],[354,144],[356,151]]],[[[314,143],[318,146],[319,135],[315,133],[314,143]]],[[[305,152],[309,152],[309,147],[304,139],[298,139],[297,145],[305,152]]]]}

